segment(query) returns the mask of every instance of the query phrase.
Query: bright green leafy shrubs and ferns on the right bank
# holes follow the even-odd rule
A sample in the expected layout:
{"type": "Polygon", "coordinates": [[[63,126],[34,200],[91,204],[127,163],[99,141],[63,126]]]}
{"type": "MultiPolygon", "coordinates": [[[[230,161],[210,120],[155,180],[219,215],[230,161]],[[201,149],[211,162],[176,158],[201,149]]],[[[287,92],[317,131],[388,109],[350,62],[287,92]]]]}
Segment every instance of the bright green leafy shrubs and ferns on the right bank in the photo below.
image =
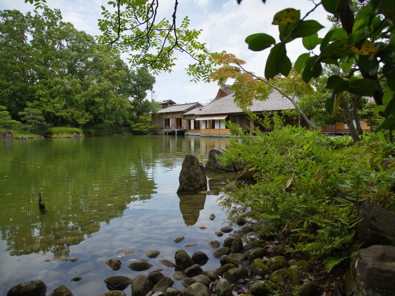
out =
{"type": "Polygon", "coordinates": [[[331,258],[328,267],[333,267],[334,258],[348,257],[359,247],[355,205],[365,199],[387,208],[394,204],[395,144],[381,133],[365,133],[350,146],[350,139],[283,127],[276,114],[267,114],[260,124],[272,131],[256,130],[251,137],[228,123],[242,141],[232,138],[222,161],[237,159],[255,170],[256,184],[238,188],[236,203],[292,233],[294,246],[288,251],[331,258]]]}

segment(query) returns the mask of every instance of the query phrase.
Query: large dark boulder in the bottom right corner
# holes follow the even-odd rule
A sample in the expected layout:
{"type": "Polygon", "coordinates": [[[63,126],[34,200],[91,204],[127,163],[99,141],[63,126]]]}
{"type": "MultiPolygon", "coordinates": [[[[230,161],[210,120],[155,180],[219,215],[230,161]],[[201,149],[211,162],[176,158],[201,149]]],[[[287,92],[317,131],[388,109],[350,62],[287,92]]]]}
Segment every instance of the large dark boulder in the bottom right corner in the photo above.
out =
{"type": "Polygon", "coordinates": [[[395,295],[395,247],[374,245],[358,250],[345,280],[346,295],[395,295]]]}

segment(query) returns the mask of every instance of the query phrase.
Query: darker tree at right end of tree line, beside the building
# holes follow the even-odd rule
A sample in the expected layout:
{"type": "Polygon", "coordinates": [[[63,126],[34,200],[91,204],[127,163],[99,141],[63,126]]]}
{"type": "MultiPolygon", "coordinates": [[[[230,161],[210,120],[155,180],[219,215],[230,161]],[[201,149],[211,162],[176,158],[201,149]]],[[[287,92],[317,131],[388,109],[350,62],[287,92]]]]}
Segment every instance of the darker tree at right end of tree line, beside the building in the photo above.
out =
{"type": "Polygon", "coordinates": [[[155,77],[146,69],[129,71],[125,93],[130,98],[133,112],[136,115],[136,123],[139,123],[142,114],[155,111],[155,105],[146,99],[147,91],[152,91],[155,81],[155,77]]]}

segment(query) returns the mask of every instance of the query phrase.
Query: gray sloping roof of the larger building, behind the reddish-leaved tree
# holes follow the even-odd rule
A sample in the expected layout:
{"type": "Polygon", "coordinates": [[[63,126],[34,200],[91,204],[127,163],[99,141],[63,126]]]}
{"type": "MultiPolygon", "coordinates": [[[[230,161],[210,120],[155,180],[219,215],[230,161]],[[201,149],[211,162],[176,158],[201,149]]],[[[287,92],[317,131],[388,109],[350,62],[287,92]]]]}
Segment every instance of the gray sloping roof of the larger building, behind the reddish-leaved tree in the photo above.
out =
{"type": "MultiPolygon", "coordinates": [[[[231,94],[212,101],[197,112],[197,115],[241,113],[242,110],[237,107],[234,99],[234,95],[231,94]]],[[[297,101],[297,98],[295,98],[295,100],[297,101]]],[[[276,90],[274,90],[265,101],[253,100],[252,106],[248,107],[248,109],[254,112],[263,110],[278,111],[286,110],[288,108],[294,109],[295,106],[293,106],[287,98],[282,97],[282,95],[276,90]]]]}

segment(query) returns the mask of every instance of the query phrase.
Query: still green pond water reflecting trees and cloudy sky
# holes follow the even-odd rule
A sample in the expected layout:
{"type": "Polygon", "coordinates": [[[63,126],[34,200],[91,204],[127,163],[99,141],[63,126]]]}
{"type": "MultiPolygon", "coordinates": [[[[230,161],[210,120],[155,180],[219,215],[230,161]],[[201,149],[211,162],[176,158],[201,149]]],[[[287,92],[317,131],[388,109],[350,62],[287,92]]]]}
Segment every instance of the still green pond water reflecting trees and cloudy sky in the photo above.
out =
{"type": "MultiPolygon", "coordinates": [[[[220,195],[176,190],[187,153],[207,159],[210,148],[228,144],[187,136],[1,141],[0,295],[34,279],[46,284],[46,295],[65,285],[75,296],[96,296],[108,291],[103,280],[112,275],[133,278],[163,268],[172,277],[174,268],[159,260],[174,262],[179,249],[190,256],[203,251],[209,257],[203,270],[218,268],[207,242],[227,237],[214,234],[230,225],[220,195]],[[39,211],[40,192],[45,213],[39,211]],[[185,239],[175,243],[178,236],[185,239]],[[197,245],[184,247],[192,243],[197,245]],[[152,250],[161,253],[149,259],[145,254],[152,250]],[[66,260],[72,257],[79,260],[66,260]],[[105,264],[111,258],[121,260],[119,270],[105,264]],[[139,259],[154,266],[139,272],[126,267],[139,259]],[[70,281],[76,276],[84,278],[70,281]]],[[[208,185],[216,189],[236,177],[208,173],[208,185]]],[[[173,287],[183,288],[181,281],[173,287]]],[[[130,296],[130,286],[124,292],[130,296]]]]}

